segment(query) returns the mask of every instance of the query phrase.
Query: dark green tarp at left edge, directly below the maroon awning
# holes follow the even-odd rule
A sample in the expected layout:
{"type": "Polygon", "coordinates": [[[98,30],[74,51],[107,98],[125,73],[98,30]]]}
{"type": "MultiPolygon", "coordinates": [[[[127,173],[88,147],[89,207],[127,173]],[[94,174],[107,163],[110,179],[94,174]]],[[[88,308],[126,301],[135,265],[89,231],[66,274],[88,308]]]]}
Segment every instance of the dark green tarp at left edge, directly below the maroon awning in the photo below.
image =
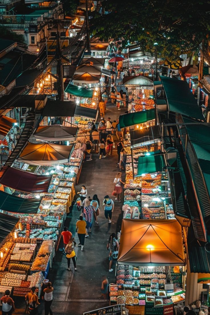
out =
{"type": "Polygon", "coordinates": [[[20,198],[0,191],[0,209],[16,213],[37,213],[41,199],[20,198]]]}

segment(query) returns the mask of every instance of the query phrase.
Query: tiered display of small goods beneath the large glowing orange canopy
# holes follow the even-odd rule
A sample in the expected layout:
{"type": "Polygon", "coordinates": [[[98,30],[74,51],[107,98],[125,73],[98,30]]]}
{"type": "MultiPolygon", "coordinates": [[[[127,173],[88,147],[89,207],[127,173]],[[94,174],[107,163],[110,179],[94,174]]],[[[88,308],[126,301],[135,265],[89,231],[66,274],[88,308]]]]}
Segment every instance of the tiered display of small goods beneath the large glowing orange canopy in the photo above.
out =
{"type": "MultiPolygon", "coordinates": [[[[165,289],[168,268],[118,265],[116,284],[110,284],[110,304],[145,305],[146,308],[156,308],[184,301],[185,291],[182,288],[174,285],[171,290],[165,289]]],[[[182,277],[181,267],[179,271],[177,275],[182,277]]],[[[177,275],[171,275],[170,280],[173,281],[173,277],[177,275]]]]}

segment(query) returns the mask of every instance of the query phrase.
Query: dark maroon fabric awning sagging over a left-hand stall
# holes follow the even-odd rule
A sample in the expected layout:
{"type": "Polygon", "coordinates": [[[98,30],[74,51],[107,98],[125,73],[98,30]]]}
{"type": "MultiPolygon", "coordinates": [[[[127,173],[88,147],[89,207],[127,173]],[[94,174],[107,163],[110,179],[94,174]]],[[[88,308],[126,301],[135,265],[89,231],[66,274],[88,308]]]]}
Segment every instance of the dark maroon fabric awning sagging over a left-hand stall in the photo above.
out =
{"type": "Polygon", "coordinates": [[[0,178],[0,184],[22,192],[47,192],[51,178],[52,175],[35,175],[8,167],[0,178]]]}

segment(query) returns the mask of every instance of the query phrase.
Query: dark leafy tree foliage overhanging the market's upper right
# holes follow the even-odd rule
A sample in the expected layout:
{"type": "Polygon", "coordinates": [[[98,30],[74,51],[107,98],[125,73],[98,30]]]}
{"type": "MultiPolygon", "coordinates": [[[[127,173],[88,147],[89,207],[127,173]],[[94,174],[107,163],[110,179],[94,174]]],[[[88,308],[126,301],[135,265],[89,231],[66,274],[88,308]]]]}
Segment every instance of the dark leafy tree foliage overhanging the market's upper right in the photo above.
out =
{"type": "Polygon", "coordinates": [[[91,31],[103,40],[113,40],[122,48],[138,42],[176,61],[183,53],[193,53],[210,33],[210,1],[205,0],[105,0],[103,12],[93,12],[91,31]]]}

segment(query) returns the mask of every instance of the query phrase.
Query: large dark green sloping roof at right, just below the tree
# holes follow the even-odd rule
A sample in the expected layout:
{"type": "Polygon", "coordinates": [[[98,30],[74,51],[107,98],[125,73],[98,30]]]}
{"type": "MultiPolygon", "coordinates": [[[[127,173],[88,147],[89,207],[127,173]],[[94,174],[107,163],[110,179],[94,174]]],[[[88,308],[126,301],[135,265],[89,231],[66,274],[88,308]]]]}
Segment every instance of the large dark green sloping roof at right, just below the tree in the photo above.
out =
{"type": "Polygon", "coordinates": [[[170,112],[204,120],[194,95],[186,81],[161,76],[170,112]]]}

